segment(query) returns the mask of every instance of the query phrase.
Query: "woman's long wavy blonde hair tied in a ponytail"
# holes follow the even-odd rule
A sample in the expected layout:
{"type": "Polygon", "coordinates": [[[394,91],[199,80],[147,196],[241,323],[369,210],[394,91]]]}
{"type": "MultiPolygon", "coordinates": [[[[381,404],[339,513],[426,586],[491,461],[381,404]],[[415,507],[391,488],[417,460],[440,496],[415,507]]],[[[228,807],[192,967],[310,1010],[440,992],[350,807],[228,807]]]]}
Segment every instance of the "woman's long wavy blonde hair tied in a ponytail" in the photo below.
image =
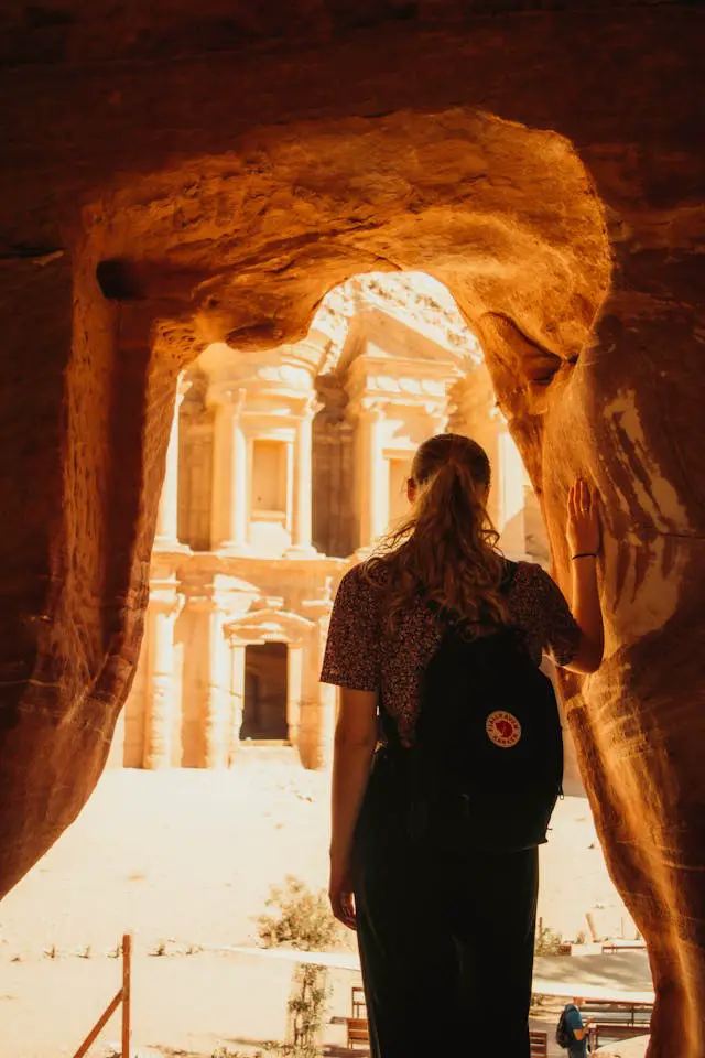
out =
{"type": "Polygon", "coordinates": [[[366,563],[367,577],[383,573],[387,624],[423,592],[441,607],[477,625],[505,625],[506,572],[499,533],[487,512],[490,464],[479,444],[440,433],[417,450],[410,483],[412,509],[366,563]]]}

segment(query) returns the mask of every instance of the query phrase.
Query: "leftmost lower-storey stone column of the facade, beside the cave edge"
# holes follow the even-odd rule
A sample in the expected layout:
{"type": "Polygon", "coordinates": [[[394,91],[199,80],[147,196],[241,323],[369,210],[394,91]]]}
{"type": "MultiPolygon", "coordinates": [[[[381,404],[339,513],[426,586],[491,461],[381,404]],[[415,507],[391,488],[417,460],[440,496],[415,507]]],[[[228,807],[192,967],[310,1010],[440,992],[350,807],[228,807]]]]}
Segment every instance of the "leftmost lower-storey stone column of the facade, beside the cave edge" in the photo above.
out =
{"type": "Polygon", "coordinates": [[[147,688],[144,767],[172,763],[174,711],[174,626],[181,597],[176,579],[153,579],[147,611],[147,688]]]}

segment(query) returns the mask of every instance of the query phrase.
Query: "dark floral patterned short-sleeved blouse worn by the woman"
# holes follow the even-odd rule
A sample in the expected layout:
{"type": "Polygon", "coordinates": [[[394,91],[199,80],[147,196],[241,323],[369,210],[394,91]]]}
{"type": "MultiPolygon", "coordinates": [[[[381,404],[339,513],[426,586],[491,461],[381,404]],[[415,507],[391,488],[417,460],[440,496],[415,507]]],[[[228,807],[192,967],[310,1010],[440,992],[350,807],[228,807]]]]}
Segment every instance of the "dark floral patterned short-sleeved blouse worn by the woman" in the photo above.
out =
{"type": "MultiPolygon", "coordinates": [[[[321,681],[358,691],[381,691],[401,742],[410,746],[429,661],[442,638],[437,618],[421,597],[402,614],[393,634],[382,626],[383,583],[370,583],[362,565],[343,580],[330,615],[321,681]]],[[[544,651],[557,665],[575,657],[581,630],[561,590],[532,562],[519,562],[508,595],[511,623],[531,657],[544,651]]]]}

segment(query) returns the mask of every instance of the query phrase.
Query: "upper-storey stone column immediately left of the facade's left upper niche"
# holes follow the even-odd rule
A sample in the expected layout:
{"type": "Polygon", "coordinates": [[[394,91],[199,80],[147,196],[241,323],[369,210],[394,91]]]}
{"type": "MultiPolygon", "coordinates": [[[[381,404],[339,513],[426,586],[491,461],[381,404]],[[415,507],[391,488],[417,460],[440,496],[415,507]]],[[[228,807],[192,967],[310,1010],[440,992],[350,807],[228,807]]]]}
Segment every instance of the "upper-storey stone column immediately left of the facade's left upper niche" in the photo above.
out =
{"type": "Polygon", "coordinates": [[[221,395],[216,411],[213,452],[214,550],[247,549],[248,460],[242,430],[245,389],[221,395]]]}

